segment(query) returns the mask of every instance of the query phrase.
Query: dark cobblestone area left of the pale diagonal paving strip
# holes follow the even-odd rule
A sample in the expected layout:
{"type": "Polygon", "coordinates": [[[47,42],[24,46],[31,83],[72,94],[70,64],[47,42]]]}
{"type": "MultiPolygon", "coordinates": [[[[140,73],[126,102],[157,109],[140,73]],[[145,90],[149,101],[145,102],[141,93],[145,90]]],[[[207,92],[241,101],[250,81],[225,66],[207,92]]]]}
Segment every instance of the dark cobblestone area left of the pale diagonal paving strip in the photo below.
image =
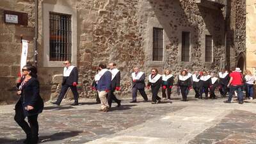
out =
{"type": "MultiPolygon", "coordinates": [[[[86,143],[182,108],[168,105],[152,107],[149,102],[148,107],[140,108],[137,104],[129,104],[128,101],[124,103],[121,108],[112,108],[108,113],[98,112],[99,104],[90,106],[92,109],[86,109],[86,106],[93,102],[85,102],[78,108],[68,105],[47,105],[38,119],[40,141],[86,143]]],[[[26,135],[15,124],[13,113],[1,115],[0,121],[0,143],[22,143],[22,138],[26,135]]]]}

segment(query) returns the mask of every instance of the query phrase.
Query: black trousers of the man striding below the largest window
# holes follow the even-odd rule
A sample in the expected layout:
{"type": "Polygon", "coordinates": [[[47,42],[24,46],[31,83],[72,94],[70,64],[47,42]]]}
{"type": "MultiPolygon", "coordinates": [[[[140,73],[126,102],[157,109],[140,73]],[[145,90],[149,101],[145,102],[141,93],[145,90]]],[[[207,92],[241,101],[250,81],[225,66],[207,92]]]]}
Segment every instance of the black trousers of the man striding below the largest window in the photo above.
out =
{"type": "Polygon", "coordinates": [[[72,91],[72,93],[73,93],[73,95],[74,95],[74,100],[75,100],[75,102],[78,102],[78,97],[79,97],[79,95],[78,95],[76,86],[69,86],[69,85],[67,85],[67,84],[64,84],[64,85],[61,87],[60,95],[59,95],[59,97],[58,97],[58,99],[57,99],[57,103],[58,103],[58,104],[61,103],[63,97],[65,96],[65,94],[66,94],[66,92],[67,92],[67,90],[68,90],[68,88],[70,88],[70,90],[72,91]]]}

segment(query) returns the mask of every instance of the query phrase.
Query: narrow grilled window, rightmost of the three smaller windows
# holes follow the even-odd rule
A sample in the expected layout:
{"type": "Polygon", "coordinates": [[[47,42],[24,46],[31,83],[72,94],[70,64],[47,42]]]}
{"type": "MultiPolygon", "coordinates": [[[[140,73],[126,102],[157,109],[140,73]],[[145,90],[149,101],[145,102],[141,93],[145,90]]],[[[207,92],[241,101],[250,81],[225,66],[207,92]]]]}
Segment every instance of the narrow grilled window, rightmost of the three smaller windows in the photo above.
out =
{"type": "Polygon", "coordinates": [[[212,36],[205,35],[205,61],[212,61],[212,36]]]}

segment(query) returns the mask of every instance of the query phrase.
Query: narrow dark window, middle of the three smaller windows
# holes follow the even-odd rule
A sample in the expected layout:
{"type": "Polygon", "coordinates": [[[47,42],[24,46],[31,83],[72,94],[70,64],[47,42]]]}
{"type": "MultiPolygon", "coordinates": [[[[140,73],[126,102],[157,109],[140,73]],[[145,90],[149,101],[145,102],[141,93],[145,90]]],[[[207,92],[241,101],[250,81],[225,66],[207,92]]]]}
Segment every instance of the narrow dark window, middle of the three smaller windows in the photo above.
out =
{"type": "Polygon", "coordinates": [[[182,31],[181,61],[190,61],[190,33],[182,31]]]}

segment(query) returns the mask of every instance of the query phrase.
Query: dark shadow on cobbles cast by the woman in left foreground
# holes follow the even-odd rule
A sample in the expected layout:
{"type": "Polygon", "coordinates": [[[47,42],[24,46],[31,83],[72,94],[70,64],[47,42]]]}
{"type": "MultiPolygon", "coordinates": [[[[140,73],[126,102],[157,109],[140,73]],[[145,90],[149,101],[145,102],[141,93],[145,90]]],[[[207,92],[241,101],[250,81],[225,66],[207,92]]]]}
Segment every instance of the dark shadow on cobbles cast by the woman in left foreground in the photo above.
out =
{"type": "Polygon", "coordinates": [[[72,138],[74,136],[77,136],[81,132],[83,131],[58,132],[58,133],[52,134],[51,136],[40,136],[39,143],[47,143],[49,141],[58,141],[58,140],[64,140],[67,138],[72,138]]]}

